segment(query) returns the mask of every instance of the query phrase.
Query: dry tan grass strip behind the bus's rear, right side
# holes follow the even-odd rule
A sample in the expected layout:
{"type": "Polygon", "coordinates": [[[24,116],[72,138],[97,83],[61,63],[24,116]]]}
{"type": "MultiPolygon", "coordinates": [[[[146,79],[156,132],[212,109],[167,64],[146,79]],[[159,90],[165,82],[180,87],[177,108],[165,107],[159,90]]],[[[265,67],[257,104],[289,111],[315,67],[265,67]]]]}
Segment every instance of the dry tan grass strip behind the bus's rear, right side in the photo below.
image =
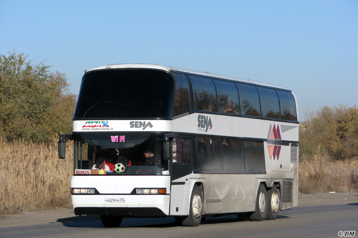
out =
{"type": "Polygon", "coordinates": [[[358,159],[332,161],[321,155],[303,159],[299,164],[299,191],[358,191],[358,159]]]}

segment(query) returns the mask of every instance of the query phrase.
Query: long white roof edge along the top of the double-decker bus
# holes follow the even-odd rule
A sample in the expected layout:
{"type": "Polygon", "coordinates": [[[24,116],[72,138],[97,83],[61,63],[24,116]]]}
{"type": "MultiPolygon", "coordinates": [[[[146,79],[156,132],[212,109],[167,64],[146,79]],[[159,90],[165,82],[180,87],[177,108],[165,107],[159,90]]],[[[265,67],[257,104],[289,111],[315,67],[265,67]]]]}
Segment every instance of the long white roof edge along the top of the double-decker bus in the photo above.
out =
{"type": "Polygon", "coordinates": [[[180,69],[180,68],[174,68],[174,67],[170,67],[170,66],[165,66],[165,65],[158,65],[158,64],[116,64],[116,65],[103,65],[100,67],[96,67],[93,69],[90,69],[86,72],[89,71],[93,71],[93,70],[105,70],[105,69],[158,69],[158,70],[163,70],[163,71],[167,71],[167,72],[181,72],[184,74],[191,74],[191,75],[198,75],[198,76],[206,76],[206,77],[213,77],[213,78],[218,78],[218,79],[227,79],[227,80],[232,80],[232,81],[237,81],[237,82],[243,82],[243,83],[248,83],[248,84],[255,84],[255,85],[261,85],[261,86],[265,86],[265,87],[273,87],[273,88],[280,88],[283,90],[287,90],[287,91],[291,91],[286,87],[282,87],[282,86],[278,86],[278,85],[273,85],[273,84],[269,84],[269,83],[261,83],[261,82],[257,82],[257,81],[252,81],[252,80],[248,80],[248,79],[239,79],[239,78],[234,78],[234,77],[228,77],[228,76],[222,76],[222,75],[217,75],[217,74],[211,74],[209,72],[200,72],[200,71],[195,71],[195,70],[186,70],[186,69],[180,69]]]}

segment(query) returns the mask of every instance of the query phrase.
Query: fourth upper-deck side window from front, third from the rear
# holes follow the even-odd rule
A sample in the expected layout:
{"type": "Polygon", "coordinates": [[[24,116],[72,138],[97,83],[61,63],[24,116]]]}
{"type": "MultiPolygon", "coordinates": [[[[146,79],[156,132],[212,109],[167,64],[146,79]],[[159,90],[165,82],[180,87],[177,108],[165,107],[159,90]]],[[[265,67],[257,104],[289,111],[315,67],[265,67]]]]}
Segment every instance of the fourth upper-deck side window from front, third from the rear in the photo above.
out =
{"type": "Polygon", "coordinates": [[[248,116],[261,116],[260,100],[255,86],[235,83],[239,92],[241,114],[248,116]]]}

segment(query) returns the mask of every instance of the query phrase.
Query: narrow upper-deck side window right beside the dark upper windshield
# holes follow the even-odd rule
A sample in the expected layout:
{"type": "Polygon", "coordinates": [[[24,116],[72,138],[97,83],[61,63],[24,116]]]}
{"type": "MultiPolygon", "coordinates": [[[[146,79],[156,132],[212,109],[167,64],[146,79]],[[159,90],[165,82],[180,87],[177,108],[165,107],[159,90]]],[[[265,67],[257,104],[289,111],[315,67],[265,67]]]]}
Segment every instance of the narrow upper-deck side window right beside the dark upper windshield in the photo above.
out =
{"type": "Polygon", "coordinates": [[[175,91],[172,117],[190,111],[190,96],[187,78],[182,74],[175,74],[175,91]]]}

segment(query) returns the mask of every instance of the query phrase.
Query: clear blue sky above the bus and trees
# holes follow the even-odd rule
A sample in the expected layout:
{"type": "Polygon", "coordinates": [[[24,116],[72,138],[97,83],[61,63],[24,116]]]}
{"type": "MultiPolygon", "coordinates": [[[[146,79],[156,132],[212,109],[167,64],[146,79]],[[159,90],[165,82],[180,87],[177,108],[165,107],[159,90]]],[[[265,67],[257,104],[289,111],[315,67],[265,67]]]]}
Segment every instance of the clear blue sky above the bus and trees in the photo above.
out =
{"type": "Polygon", "coordinates": [[[299,119],[358,105],[358,1],[0,0],[0,54],[67,76],[150,63],[285,86],[299,119]]]}

